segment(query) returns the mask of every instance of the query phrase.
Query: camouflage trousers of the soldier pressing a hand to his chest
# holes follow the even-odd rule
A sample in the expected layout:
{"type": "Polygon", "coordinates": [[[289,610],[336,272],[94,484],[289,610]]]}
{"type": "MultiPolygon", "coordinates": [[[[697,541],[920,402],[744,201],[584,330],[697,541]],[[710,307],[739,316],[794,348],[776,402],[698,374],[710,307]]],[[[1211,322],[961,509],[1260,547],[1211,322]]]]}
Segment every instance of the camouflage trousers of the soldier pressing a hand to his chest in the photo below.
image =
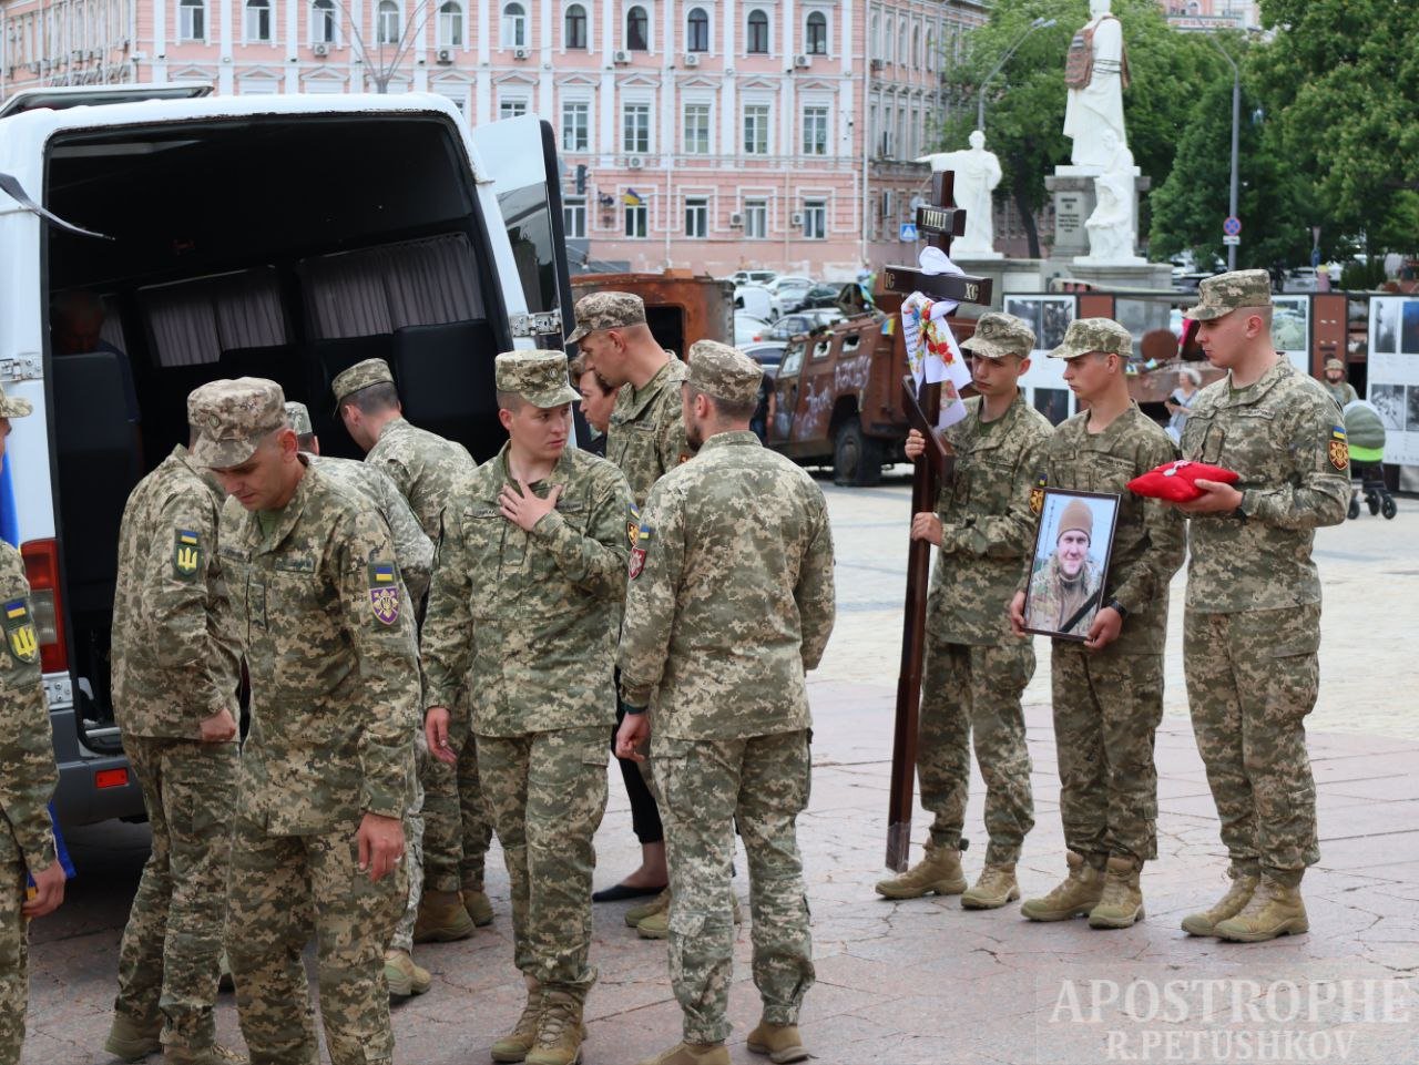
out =
{"type": "Polygon", "coordinates": [[[583,998],[592,953],[592,840],[606,813],[606,726],[478,736],[478,771],[512,889],[518,969],[583,998]]]}

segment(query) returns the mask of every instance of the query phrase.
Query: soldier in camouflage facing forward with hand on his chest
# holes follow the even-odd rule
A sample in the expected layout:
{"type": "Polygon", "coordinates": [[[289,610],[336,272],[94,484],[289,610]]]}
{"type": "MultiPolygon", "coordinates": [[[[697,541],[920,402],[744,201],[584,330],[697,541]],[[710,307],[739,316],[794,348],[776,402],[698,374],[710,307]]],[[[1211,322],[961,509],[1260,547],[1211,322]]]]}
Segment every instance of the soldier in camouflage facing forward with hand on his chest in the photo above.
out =
{"type": "Polygon", "coordinates": [[[572,1065],[596,980],[592,838],[606,810],[606,727],[626,586],[626,478],[566,442],[561,352],[497,359],[509,440],[454,488],[434,567],[423,654],[429,746],[454,760],[450,708],[464,684],[478,770],[512,885],[514,954],[528,984],[494,1061],[572,1065]]]}

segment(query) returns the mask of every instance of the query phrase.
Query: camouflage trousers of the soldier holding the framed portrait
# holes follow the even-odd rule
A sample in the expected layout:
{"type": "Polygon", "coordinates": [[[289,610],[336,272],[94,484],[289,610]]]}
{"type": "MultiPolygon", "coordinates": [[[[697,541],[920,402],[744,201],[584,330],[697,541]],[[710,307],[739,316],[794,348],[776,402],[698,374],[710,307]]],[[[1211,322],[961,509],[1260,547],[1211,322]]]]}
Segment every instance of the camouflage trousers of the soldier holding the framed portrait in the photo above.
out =
{"type": "Polygon", "coordinates": [[[1050,679],[1064,845],[1086,857],[1156,858],[1162,655],[1056,640],[1050,679]]]}

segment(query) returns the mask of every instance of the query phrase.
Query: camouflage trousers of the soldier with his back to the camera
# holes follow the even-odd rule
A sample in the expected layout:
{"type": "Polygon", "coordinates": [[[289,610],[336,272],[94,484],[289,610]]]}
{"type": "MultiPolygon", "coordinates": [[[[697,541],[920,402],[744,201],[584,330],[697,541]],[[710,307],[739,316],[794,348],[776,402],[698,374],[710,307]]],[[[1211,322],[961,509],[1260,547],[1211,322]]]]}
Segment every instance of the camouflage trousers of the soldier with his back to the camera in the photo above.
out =
{"type": "Polygon", "coordinates": [[[734,980],[734,830],[749,862],[753,984],[763,1020],[797,1024],[813,943],[795,820],[812,774],[806,730],[736,740],[653,733],[670,862],[670,983],[688,1042],[719,1042],[734,980]]]}

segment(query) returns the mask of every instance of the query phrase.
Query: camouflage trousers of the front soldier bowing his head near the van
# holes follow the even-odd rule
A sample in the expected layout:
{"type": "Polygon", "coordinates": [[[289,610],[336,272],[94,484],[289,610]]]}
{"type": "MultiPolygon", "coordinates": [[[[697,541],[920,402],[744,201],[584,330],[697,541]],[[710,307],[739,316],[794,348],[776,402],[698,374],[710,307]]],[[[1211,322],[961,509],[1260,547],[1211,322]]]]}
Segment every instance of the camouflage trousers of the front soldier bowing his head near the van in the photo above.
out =
{"type": "Polygon", "coordinates": [[[322,835],[270,835],[241,817],[231,848],[227,957],[251,1065],[318,1065],[301,952],[315,925],[321,1015],[332,1065],[387,1065],[385,946],[404,908],[400,864],[377,883],[359,869],[356,823],[322,835]]]}

